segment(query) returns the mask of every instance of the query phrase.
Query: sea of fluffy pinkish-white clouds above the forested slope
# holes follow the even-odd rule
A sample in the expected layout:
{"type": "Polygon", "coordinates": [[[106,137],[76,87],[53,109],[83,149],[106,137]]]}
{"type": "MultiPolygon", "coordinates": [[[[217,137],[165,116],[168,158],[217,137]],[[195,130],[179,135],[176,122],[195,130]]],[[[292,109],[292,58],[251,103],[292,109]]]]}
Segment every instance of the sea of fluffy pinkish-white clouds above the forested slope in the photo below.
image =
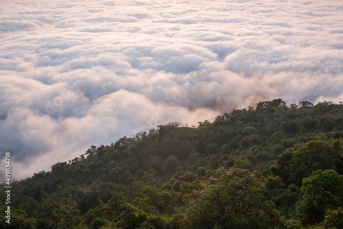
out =
{"type": "Polygon", "coordinates": [[[343,101],[342,1],[0,5],[0,165],[12,152],[16,179],[170,121],[343,101]]]}

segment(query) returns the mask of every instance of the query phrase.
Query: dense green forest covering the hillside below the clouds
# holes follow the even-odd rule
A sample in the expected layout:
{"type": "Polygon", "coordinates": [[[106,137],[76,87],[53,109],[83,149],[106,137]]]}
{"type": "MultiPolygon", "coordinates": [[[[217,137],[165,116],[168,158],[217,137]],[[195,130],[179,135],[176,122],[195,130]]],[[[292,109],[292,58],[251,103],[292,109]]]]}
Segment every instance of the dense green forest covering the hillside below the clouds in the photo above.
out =
{"type": "Polygon", "coordinates": [[[343,106],[330,101],[158,125],[13,182],[0,227],[340,229],[342,140],[343,106]]]}

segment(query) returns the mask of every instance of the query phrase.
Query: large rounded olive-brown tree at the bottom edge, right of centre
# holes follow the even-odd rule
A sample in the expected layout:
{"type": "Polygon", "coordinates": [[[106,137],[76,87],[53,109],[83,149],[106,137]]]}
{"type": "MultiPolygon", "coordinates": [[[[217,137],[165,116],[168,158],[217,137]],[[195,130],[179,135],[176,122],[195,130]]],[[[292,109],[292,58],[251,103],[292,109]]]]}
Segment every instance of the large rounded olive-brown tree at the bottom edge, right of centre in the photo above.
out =
{"type": "Polygon", "coordinates": [[[200,191],[187,195],[182,228],[273,228],[279,213],[263,193],[259,178],[245,169],[221,170],[200,191]]]}

